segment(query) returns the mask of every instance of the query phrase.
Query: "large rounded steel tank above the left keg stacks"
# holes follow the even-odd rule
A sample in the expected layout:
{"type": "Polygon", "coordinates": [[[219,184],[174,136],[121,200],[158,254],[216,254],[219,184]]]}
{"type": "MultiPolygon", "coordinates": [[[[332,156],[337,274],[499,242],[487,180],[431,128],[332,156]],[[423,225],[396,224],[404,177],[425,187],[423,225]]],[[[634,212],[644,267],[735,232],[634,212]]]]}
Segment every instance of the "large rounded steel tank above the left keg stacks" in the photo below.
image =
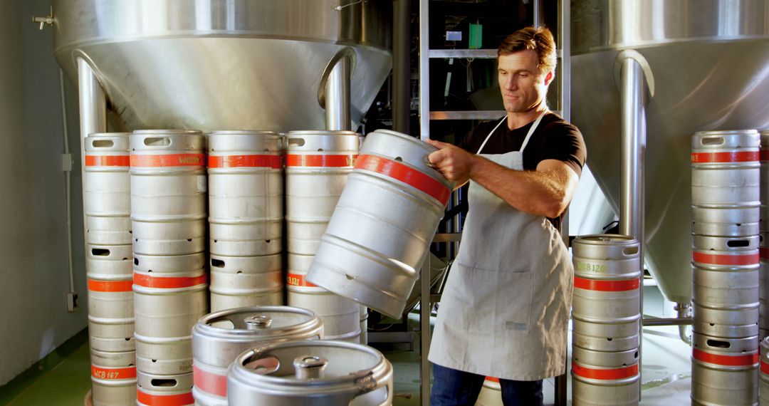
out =
{"type": "MultiPolygon", "coordinates": [[[[88,61],[128,129],[325,128],[320,75],[355,50],[351,122],[391,68],[391,3],[333,0],[55,0],[55,56],[88,61]]],[[[104,130],[102,130],[104,131],[104,130]]]]}

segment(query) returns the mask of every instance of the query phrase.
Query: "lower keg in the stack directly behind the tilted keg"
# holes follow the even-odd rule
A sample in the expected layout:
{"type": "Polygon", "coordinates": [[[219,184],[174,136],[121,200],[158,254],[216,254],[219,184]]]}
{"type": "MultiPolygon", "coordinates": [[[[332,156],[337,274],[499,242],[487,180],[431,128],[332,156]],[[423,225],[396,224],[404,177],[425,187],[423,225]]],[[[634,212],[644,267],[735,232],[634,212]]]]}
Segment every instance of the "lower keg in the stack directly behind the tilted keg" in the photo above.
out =
{"type": "Polygon", "coordinates": [[[308,282],[312,259],[312,255],[288,254],[288,305],[318,314],[327,340],[360,342],[361,305],[308,282]]]}

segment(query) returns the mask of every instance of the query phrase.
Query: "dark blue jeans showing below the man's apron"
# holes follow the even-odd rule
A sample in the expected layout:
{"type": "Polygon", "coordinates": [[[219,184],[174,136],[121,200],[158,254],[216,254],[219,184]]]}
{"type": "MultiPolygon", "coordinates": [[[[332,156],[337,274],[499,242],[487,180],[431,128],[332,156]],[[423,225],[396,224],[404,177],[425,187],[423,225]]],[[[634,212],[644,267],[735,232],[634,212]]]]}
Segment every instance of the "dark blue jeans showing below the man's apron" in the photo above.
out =
{"type": "MultiPolygon", "coordinates": [[[[430,406],[473,406],[481,393],[483,375],[432,364],[433,387],[430,406]]],[[[510,381],[500,379],[504,406],[541,406],[542,380],[510,381]]]]}

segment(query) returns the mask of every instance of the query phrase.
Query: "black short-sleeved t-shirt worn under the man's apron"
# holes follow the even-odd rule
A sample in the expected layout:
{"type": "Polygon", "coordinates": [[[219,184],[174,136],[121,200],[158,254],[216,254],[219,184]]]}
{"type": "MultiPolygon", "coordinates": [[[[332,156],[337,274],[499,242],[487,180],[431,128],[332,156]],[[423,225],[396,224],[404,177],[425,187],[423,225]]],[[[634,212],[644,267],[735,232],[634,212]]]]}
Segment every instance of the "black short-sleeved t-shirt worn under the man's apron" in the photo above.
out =
{"type": "MultiPolygon", "coordinates": [[[[498,125],[502,118],[494,121],[485,121],[476,126],[468,135],[459,142],[458,146],[473,154],[481,148],[484,139],[494,126],[498,125]]],[[[524,138],[533,122],[521,128],[510,130],[506,122],[502,123],[494,134],[488,138],[481,154],[506,154],[521,149],[524,138]]],[[[545,159],[557,159],[569,165],[577,175],[582,175],[582,166],[587,158],[587,150],[584,140],[578,128],[574,127],[563,118],[554,113],[544,115],[534,134],[529,138],[523,152],[524,171],[534,171],[537,165],[545,159]]],[[[555,228],[561,229],[563,215],[551,218],[555,228]]]]}

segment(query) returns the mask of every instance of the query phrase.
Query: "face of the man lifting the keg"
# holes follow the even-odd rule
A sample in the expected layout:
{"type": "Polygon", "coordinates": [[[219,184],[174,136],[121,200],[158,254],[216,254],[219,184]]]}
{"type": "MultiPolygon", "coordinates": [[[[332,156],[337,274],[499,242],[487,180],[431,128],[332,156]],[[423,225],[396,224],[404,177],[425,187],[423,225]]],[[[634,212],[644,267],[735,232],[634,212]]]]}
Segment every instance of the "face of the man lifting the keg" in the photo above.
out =
{"type": "Polygon", "coordinates": [[[523,113],[544,103],[553,72],[540,72],[537,62],[537,52],[531,49],[498,58],[499,88],[509,113],[523,113]]]}

